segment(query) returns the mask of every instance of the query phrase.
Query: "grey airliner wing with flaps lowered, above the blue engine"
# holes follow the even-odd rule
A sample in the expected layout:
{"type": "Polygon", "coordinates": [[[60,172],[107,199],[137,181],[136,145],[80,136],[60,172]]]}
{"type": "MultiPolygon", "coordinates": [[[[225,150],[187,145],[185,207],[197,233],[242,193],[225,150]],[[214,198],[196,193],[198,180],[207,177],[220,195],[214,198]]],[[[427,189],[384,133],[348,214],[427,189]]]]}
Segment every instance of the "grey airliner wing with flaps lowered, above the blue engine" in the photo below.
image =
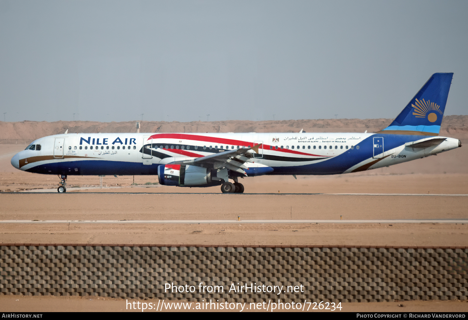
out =
{"type": "Polygon", "coordinates": [[[206,167],[213,169],[227,168],[238,172],[242,175],[247,175],[244,169],[248,169],[246,162],[253,162],[251,159],[255,153],[258,153],[260,145],[254,145],[252,148],[240,148],[237,150],[228,150],[220,153],[210,154],[205,157],[196,158],[193,160],[184,160],[172,162],[173,164],[185,164],[198,167],[206,167]]]}

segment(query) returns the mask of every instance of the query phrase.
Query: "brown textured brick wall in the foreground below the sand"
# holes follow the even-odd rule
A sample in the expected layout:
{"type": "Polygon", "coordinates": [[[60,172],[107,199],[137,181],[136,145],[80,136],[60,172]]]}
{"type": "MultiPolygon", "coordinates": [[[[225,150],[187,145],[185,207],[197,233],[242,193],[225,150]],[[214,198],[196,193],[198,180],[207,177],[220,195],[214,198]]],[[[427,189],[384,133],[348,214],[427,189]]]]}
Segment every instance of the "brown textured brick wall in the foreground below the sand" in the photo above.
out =
{"type": "MultiPolygon", "coordinates": [[[[467,299],[468,247],[5,244],[1,294],[284,302],[467,299]],[[164,285],[193,285],[193,293],[164,285]],[[198,285],[222,286],[203,293],[198,285]],[[229,292],[231,284],[304,292],[229,292]]],[[[205,300],[206,301],[206,300],[205,300]]]]}

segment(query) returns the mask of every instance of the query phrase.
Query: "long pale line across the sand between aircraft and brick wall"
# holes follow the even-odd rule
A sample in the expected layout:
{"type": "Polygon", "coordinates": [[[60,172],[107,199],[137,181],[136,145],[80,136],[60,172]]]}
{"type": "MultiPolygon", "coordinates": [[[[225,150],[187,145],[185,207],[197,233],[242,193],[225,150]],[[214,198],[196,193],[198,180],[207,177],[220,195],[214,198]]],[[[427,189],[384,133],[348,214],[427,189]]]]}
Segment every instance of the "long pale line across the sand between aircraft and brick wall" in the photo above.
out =
{"type": "Polygon", "coordinates": [[[247,224],[247,223],[314,223],[314,224],[359,224],[359,223],[463,223],[468,219],[408,219],[408,220],[0,220],[0,223],[151,223],[151,224],[247,224]]]}

